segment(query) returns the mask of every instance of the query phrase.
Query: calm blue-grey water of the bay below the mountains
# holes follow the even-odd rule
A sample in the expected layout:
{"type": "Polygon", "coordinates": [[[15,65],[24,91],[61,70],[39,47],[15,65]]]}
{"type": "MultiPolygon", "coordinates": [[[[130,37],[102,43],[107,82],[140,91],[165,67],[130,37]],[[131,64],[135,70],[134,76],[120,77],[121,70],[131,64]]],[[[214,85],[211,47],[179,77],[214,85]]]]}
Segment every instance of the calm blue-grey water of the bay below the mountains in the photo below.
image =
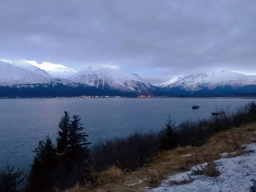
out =
{"type": "Polygon", "coordinates": [[[210,116],[216,108],[231,110],[250,99],[0,99],[0,163],[28,168],[32,150],[47,133],[55,140],[64,111],[77,114],[90,142],[125,137],[134,129],[158,131],[169,114],[176,122],[210,116]],[[192,105],[200,109],[192,110],[192,105]]]}

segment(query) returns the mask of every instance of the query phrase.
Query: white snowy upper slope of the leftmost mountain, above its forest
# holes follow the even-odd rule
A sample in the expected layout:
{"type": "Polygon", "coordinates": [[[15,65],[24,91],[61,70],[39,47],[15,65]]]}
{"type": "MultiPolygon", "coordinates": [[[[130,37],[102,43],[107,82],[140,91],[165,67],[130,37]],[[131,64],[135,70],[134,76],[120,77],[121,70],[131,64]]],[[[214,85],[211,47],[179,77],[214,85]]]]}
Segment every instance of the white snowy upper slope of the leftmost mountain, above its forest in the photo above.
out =
{"type": "Polygon", "coordinates": [[[0,86],[12,86],[15,84],[45,83],[48,78],[31,70],[21,69],[13,64],[0,61],[0,86]]]}

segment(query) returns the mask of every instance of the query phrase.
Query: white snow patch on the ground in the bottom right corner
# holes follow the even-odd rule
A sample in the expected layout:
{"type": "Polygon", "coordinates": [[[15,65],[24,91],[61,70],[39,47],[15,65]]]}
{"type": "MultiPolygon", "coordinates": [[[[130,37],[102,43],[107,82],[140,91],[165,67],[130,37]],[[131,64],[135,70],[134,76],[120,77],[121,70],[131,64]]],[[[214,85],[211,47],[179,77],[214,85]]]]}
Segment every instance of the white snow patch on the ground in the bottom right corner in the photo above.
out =
{"type": "MultiPolygon", "coordinates": [[[[256,151],[256,144],[247,145],[248,149],[256,151]]],[[[249,192],[253,185],[251,180],[256,179],[256,153],[245,154],[230,159],[219,159],[215,161],[221,170],[219,177],[207,177],[204,175],[191,176],[195,180],[186,185],[170,186],[171,180],[181,181],[183,177],[188,180],[191,171],[172,175],[158,188],[150,192],[249,192]]],[[[192,170],[193,168],[191,168],[192,170]]]]}

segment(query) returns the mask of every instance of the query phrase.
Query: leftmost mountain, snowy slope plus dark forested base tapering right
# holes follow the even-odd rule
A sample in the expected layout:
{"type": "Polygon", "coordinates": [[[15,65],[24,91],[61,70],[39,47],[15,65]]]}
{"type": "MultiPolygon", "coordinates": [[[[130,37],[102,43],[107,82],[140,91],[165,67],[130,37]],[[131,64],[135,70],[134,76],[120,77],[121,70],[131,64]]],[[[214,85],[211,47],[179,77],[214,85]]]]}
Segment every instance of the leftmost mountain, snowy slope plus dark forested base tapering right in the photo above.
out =
{"type": "Polygon", "coordinates": [[[31,70],[0,61],[0,97],[55,97],[111,95],[63,78],[48,78],[31,70]]]}

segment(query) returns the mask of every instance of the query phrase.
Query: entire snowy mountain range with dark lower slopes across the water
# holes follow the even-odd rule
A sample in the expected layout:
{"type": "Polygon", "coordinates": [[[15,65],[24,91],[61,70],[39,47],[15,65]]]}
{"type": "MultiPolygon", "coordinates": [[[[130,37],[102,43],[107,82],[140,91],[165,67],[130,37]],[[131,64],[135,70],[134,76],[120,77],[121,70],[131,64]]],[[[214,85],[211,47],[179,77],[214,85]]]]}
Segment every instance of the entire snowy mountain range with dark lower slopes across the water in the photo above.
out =
{"type": "Polygon", "coordinates": [[[252,96],[256,76],[222,70],[197,73],[153,86],[119,67],[89,67],[68,78],[52,77],[33,65],[20,68],[0,61],[0,97],[140,94],[158,96],[252,96]]]}

